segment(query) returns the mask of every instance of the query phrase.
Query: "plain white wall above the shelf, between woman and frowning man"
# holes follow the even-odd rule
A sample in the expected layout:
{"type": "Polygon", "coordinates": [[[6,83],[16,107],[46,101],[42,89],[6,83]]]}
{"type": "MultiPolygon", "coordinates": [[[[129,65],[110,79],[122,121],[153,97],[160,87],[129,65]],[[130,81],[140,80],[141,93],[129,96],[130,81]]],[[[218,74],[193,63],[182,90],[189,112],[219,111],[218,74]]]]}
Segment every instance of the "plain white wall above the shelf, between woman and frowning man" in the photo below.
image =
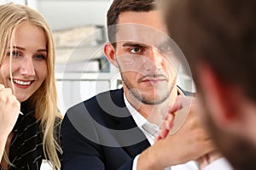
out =
{"type": "Polygon", "coordinates": [[[37,5],[55,31],[74,26],[106,26],[110,0],[40,0],[37,5]]]}

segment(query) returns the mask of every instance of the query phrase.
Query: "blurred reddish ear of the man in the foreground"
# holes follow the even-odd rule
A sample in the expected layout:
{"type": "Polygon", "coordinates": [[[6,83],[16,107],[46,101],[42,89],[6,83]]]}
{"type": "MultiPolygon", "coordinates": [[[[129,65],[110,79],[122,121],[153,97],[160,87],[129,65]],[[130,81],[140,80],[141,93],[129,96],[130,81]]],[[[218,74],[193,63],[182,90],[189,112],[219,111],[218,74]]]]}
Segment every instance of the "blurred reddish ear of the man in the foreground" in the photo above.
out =
{"type": "Polygon", "coordinates": [[[214,122],[218,123],[218,126],[229,126],[238,121],[240,104],[236,98],[236,88],[218,77],[210,65],[201,64],[197,71],[205,105],[211,111],[214,122]]]}

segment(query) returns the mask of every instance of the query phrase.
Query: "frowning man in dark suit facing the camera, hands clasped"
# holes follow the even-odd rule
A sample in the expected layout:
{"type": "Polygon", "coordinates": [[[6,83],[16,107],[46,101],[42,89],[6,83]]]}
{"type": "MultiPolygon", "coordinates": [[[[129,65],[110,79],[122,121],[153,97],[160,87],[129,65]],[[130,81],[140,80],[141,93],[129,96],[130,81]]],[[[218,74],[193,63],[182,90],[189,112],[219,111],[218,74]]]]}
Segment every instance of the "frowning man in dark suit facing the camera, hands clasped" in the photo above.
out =
{"type": "MultiPolygon", "coordinates": [[[[215,150],[193,111],[177,133],[154,144],[169,106],[184,95],[176,86],[178,50],[167,45],[171,40],[156,3],[114,0],[109,8],[104,52],[119,68],[123,88],[67,111],[62,169],[164,169],[187,161],[181,169],[198,169],[190,161],[215,150]]],[[[216,169],[224,161],[219,157],[211,155],[206,167],[216,169]]]]}

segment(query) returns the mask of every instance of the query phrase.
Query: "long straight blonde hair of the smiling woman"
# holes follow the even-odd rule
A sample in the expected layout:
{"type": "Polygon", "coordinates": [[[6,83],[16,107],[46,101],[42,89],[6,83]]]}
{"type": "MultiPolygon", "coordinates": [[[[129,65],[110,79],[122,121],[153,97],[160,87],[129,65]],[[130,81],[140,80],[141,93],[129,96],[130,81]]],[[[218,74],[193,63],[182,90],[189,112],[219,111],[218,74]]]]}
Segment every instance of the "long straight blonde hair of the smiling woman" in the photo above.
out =
{"type": "Polygon", "coordinates": [[[35,108],[35,117],[40,121],[40,128],[44,131],[44,156],[48,158],[54,169],[60,169],[61,161],[58,158],[57,151],[60,153],[62,151],[60,144],[56,141],[60,136],[59,133],[54,132],[55,118],[61,118],[61,113],[57,108],[55,87],[55,48],[49,25],[44,17],[34,9],[15,3],[0,5],[0,65],[6,57],[8,48],[11,48],[15,38],[15,30],[22,21],[29,21],[33,25],[42,28],[46,37],[48,76],[41,87],[27,101],[29,105],[35,108]]]}

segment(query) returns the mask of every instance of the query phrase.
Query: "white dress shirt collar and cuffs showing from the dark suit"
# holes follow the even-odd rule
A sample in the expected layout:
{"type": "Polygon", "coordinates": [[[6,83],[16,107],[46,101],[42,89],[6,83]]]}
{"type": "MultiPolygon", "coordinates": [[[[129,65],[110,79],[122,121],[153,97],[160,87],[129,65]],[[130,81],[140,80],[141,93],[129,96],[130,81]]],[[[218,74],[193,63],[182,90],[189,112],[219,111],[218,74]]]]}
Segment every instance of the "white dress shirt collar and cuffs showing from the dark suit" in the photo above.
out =
{"type": "MultiPolygon", "coordinates": [[[[153,123],[148,122],[148,120],[143,117],[137,110],[128,102],[128,100],[125,97],[125,105],[130,111],[131,116],[133,117],[134,121],[137,124],[137,127],[139,127],[143,133],[145,134],[146,138],[148,139],[148,142],[153,145],[154,144],[154,137],[159,131],[159,127],[153,123]],[[145,127],[145,124],[147,126],[145,127]]],[[[140,155],[137,155],[133,161],[132,170],[137,170],[137,160],[140,155]]],[[[198,163],[196,161],[188,161],[186,163],[172,166],[172,167],[166,167],[165,170],[172,169],[172,170],[199,170],[198,163]]],[[[230,166],[230,163],[223,157],[219,158],[216,161],[213,161],[207,167],[204,168],[204,170],[232,170],[233,168],[230,166]]]]}

